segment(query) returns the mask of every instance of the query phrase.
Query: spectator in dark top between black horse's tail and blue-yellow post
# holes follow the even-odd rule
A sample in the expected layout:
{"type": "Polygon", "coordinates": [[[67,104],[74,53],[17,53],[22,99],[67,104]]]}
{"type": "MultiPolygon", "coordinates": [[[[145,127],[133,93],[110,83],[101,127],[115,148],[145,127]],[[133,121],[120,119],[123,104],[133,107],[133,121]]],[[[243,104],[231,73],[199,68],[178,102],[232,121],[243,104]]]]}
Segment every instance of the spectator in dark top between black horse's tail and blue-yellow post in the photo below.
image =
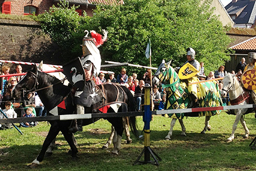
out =
{"type": "Polygon", "coordinates": [[[134,98],[136,99],[137,111],[141,110],[141,105],[144,103],[145,82],[140,80],[139,85],[135,88],[134,98]]]}

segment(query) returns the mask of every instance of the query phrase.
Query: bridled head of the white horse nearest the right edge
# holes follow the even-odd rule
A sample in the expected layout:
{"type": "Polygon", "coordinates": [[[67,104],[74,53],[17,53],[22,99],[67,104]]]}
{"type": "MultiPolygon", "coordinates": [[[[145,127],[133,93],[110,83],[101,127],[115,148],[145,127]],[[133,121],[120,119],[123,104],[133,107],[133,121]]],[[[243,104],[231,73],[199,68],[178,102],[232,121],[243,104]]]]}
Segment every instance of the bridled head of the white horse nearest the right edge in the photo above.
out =
{"type": "MultiPolygon", "coordinates": [[[[237,79],[235,78],[235,75],[232,75],[231,73],[228,73],[223,79],[222,79],[222,97],[225,98],[229,92],[232,90],[235,90],[235,85],[237,84],[237,79]]],[[[239,84],[239,82],[238,82],[239,84]]]]}

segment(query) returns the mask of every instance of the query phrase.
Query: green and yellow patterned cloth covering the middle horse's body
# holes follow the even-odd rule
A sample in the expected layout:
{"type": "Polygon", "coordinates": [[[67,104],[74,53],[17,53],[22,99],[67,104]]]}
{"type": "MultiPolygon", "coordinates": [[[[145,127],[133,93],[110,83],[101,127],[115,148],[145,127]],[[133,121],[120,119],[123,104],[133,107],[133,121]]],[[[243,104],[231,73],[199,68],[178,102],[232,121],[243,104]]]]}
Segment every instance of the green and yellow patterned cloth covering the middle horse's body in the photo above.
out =
{"type": "MultiPolygon", "coordinates": [[[[169,68],[169,70],[172,68],[169,68]]],[[[222,105],[222,98],[220,92],[218,91],[218,85],[215,81],[202,82],[199,84],[192,84],[193,86],[188,86],[186,82],[197,82],[198,78],[192,77],[189,80],[180,81],[177,74],[170,74],[171,84],[163,85],[167,92],[166,97],[166,109],[183,109],[187,108],[191,104],[191,98],[189,94],[193,94],[198,98],[199,107],[219,107],[222,105]],[[173,81],[171,81],[173,80],[173,81]]],[[[215,114],[220,114],[219,110],[215,111],[201,111],[200,116],[214,116],[215,114]]],[[[183,119],[184,113],[169,114],[169,117],[176,119],[183,119]]]]}

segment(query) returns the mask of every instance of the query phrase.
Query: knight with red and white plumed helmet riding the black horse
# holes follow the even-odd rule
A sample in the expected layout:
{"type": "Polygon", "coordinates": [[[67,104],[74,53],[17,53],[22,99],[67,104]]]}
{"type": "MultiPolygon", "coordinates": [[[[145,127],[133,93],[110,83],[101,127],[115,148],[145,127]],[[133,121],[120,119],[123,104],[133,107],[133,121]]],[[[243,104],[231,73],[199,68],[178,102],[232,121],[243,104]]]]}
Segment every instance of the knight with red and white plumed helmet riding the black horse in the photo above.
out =
{"type": "MultiPolygon", "coordinates": [[[[88,37],[87,31],[87,36],[83,39],[83,56],[80,58],[80,61],[84,68],[85,80],[84,89],[78,88],[74,93],[74,104],[76,104],[77,114],[85,114],[92,105],[102,101],[102,95],[95,90],[95,82],[96,76],[100,72],[101,63],[100,52],[97,48],[107,40],[107,31],[103,30],[103,32],[103,39],[95,31],[90,32],[93,38],[88,37]]],[[[77,122],[74,122],[74,125],[71,126],[70,131],[82,131],[82,119],[77,119],[77,122]]]]}

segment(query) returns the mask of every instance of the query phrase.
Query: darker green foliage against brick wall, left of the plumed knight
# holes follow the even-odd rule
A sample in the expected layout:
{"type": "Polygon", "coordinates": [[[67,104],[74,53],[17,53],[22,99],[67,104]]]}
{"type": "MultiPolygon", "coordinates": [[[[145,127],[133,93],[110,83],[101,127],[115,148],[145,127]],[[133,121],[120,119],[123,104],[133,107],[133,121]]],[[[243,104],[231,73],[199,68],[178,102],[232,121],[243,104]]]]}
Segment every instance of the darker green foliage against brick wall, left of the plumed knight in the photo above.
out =
{"type": "Polygon", "coordinates": [[[84,25],[88,17],[79,16],[76,8],[74,5],[69,7],[67,1],[60,1],[58,7],[53,5],[49,12],[45,11],[38,16],[42,29],[62,48],[65,56],[60,57],[60,60],[68,61],[70,57],[82,54],[82,50],[78,50],[84,35],[81,25],[84,25]]]}

